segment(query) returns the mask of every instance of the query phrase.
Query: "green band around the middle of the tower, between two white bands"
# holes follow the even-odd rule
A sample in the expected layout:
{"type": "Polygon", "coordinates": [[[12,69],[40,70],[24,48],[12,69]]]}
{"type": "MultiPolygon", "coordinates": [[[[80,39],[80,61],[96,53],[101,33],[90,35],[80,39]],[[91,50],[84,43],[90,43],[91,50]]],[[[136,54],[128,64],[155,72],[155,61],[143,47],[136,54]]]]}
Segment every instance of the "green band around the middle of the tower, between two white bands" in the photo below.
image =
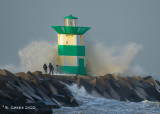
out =
{"type": "Polygon", "coordinates": [[[58,45],[58,54],[63,56],[85,56],[85,46],[58,45]]]}

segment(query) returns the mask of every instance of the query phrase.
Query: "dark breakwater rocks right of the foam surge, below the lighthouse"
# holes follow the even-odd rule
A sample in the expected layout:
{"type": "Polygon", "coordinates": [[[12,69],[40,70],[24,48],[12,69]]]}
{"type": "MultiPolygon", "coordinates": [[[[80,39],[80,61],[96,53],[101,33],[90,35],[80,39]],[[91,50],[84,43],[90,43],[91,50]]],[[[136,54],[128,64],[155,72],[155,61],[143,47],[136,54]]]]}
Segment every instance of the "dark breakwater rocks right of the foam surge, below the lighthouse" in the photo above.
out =
{"type": "Polygon", "coordinates": [[[67,84],[76,83],[79,87],[84,86],[91,94],[120,101],[141,102],[144,100],[160,101],[160,82],[148,77],[120,77],[115,74],[106,74],[98,77],[66,77],[55,76],[67,84]]]}

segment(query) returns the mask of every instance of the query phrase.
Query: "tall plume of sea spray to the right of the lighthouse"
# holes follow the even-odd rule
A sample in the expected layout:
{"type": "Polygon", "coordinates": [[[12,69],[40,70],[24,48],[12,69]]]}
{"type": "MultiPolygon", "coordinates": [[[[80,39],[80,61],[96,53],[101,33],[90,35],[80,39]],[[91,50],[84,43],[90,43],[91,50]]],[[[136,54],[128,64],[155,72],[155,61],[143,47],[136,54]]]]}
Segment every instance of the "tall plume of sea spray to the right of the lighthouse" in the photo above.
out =
{"type": "Polygon", "coordinates": [[[131,63],[143,49],[142,45],[128,43],[111,48],[101,44],[86,45],[87,73],[92,76],[107,73],[126,73],[131,63]]]}

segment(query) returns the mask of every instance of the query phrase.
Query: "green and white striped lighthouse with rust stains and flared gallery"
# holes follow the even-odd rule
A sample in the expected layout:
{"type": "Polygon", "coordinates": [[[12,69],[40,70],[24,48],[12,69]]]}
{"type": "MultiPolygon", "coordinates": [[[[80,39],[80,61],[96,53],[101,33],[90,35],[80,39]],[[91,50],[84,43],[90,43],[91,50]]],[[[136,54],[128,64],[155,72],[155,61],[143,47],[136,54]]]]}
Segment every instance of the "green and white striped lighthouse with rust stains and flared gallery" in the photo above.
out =
{"type": "Polygon", "coordinates": [[[58,32],[58,69],[62,74],[86,76],[85,38],[90,27],[78,26],[78,18],[64,17],[65,26],[51,26],[58,32]]]}

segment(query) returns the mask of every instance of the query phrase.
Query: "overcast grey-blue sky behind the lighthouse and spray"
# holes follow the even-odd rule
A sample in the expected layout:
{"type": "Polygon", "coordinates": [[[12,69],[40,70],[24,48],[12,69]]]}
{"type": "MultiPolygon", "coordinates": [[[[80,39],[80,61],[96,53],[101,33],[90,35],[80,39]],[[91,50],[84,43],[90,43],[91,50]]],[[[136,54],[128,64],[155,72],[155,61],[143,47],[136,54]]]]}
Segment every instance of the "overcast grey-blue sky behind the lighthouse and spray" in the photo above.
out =
{"type": "Polygon", "coordinates": [[[33,40],[57,41],[51,26],[69,14],[91,27],[87,40],[142,45],[133,65],[160,75],[160,0],[0,0],[0,66],[19,64],[18,50],[33,40]]]}

